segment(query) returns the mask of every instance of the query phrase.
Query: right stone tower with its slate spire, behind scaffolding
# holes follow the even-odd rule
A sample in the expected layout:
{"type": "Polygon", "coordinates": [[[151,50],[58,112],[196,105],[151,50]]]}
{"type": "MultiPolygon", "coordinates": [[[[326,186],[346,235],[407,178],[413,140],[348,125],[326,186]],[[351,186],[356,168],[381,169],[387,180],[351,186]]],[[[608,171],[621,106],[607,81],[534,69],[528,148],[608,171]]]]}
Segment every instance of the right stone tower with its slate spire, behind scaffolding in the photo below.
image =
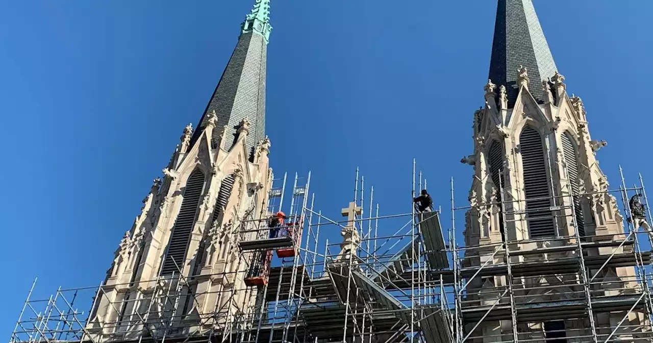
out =
{"type": "MultiPolygon", "coordinates": [[[[634,261],[602,262],[613,252],[633,255],[632,246],[620,245],[624,218],[596,159],[605,141],[590,137],[581,99],[567,94],[532,0],[498,0],[488,78],[485,106],[474,112],[473,154],[462,159],[474,169],[462,267],[484,266],[468,279],[469,306],[508,310],[477,327],[481,315],[463,316],[465,331],[475,342],[596,342],[596,335],[602,342],[629,306],[591,303],[638,292],[634,261]],[[485,271],[493,267],[494,274],[485,271]],[[572,301],[580,312],[562,305],[572,301]],[[523,310],[533,303],[541,315],[523,310]]],[[[643,320],[631,313],[620,339],[641,331],[643,320]]]]}

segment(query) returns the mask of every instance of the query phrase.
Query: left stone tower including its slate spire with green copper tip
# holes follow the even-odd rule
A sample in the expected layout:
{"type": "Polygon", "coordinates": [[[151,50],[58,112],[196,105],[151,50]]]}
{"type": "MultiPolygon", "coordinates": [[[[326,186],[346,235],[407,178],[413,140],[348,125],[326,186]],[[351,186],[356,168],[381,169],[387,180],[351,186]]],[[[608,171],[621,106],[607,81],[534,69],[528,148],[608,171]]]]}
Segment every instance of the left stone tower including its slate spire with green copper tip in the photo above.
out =
{"type": "Polygon", "coordinates": [[[245,315],[243,304],[253,308],[257,289],[244,285],[241,272],[248,257],[233,245],[245,216],[267,216],[269,8],[269,0],[255,0],[197,129],[183,129],[121,240],[87,325],[95,341],[138,338],[133,327],[132,336],[116,337],[136,325],[133,318],[142,335],[192,335],[245,315]],[[221,316],[206,316],[215,313],[221,316]]]}

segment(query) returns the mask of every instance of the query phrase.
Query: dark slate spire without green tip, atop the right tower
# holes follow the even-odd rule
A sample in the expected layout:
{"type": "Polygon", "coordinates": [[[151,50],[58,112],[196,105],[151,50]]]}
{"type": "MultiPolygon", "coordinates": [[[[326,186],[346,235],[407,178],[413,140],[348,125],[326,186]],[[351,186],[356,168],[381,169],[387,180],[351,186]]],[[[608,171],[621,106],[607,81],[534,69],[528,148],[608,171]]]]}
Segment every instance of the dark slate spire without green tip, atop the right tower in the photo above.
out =
{"type": "Polygon", "coordinates": [[[517,98],[520,65],[528,69],[529,91],[543,102],[542,80],[552,77],[557,69],[532,0],[498,0],[489,78],[506,86],[509,107],[517,98]]]}

